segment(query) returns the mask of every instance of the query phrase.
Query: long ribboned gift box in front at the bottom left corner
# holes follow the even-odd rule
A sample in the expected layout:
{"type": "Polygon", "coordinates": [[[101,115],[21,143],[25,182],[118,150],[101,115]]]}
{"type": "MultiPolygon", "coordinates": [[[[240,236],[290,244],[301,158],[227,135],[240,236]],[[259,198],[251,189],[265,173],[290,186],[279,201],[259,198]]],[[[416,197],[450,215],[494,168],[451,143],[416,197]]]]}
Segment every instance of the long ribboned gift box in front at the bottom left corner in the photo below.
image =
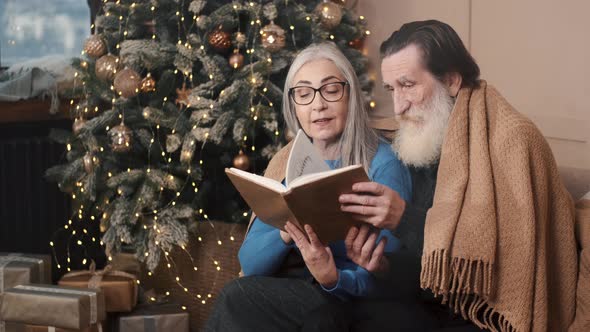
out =
{"type": "Polygon", "coordinates": [[[98,289],[52,285],[19,285],[0,301],[0,320],[32,325],[84,329],[106,319],[104,294],[98,289]]]}

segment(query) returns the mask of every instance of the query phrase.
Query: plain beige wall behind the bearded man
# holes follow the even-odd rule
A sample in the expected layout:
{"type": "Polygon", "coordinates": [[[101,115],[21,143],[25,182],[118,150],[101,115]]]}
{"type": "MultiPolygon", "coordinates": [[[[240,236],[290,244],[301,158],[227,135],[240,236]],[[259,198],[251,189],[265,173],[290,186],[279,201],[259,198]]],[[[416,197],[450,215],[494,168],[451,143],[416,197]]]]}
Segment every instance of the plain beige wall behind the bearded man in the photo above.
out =
{"type": "Polygon", "coordinates": [[[376,79],[374,118],[392,114],[381,88],[379,45],[401,24],[438,19],[457,30],[493,84],[541,129],[560,166],[590,169],[590,2],[359,0],[376,79]]]}

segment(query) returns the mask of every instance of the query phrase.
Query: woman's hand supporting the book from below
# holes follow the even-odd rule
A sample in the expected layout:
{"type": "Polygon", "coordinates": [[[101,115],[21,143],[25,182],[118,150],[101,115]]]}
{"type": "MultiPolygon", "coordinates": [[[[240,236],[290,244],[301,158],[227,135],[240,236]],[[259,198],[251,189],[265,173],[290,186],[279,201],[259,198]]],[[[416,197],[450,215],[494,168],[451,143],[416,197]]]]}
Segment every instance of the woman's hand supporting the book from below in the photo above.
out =
{"type": "Polygon", "coordinates": [[[338,283],[338,270],[336,269],[332,251],[330,247],[324,246],[320,242],[311,226],[305,225],[304,228],[309,240],[291,222],[287,222],[287,225],[285,225],[285,229],[295,241],[299,251],[301,251],[305,265],[315,280],[324,288],[333,288],[338,283]]]}

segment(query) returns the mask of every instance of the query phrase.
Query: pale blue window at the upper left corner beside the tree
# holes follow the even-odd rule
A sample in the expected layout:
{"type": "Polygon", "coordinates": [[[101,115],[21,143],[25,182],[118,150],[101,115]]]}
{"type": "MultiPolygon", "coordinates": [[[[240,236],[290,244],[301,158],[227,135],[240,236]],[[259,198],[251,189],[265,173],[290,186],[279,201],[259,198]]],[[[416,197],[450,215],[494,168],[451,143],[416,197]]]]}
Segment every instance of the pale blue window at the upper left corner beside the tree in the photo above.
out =
{"type": "Polygon", "coordinates": [[[90,34],[84,0],[0,0],[0,67],[46,55],[79,56],[90,34]]]}

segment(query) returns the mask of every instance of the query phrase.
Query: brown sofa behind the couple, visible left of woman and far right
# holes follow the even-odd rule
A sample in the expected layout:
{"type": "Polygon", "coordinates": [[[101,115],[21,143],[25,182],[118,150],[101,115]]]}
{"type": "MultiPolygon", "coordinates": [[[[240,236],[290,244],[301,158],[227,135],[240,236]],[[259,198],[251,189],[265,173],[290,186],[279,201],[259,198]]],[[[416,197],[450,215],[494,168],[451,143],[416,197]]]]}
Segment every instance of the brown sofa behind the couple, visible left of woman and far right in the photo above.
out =
{"type": "MultiPolygon", "coordinates": [[[[560,174],[574,200],[577,201],[590,191],[590,169],[561,167],[560,174]]],[[[220,221],[206,223],[200,227],[198,234],[201,236],[201,241],[191,241],[186,252],[176,250],[171,253],[176,263],[176,273],[172,273],[163,260],[155,274],[148,276],[144,271],[141,278],[144,289],[154,289],[160,294],[170,292],[171,301],[187,306],[192,331],[198,331],[203,327],[213,307],[215,295],[223,288],[223,285],[238,277],[240,266],[237,252],[246,232],[245,225],[220,221]],[[222,241],[221,245],[217,242],[218,240],[222,241]],[[193,271],[193,265],[198,267],[197,272],[193,271]],[[182,286],[175,280],[177,275],[182,280],[182,286]],[[184,287],[189,291],[185,291],[184,287]]],[[[588,280],[590,280],[590,272],[588,280]]],[[[579,287],[588,292],[587,296],[590,298],[590,285],[579,287]]],[[[577,320],[578,326],[585,327],[586,312],[590,313],[590,304],[588,308],[582,307],[580,316],[584,318],[577,320]]]]}

